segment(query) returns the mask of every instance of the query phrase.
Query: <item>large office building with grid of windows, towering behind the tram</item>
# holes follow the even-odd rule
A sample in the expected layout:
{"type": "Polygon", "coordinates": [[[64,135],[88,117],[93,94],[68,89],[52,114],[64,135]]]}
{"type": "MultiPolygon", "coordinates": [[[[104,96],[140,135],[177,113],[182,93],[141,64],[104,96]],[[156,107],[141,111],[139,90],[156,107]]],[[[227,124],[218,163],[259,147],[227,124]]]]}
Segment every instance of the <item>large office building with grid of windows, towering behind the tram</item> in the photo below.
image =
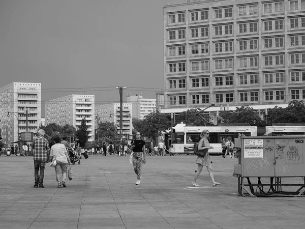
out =
{"type": "Polygon", "coordinates": [[[165,6],[164,85],[157,94],[163,113],[305,99],[305,0],[165,6]]]}

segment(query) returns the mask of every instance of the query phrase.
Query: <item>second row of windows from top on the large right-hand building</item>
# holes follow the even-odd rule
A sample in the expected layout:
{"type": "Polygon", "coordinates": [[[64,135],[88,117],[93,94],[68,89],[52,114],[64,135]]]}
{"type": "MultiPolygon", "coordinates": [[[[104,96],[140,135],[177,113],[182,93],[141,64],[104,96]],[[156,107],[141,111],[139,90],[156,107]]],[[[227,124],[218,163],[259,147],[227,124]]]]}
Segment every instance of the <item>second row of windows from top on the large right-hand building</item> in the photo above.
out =
{"type": "MultiPolygon", "coordinates": [[[[298,28],[305,28],[305,17],[290,18],[290,30],[298,28]]],[[[237,23],[238,35],[252,35],[258,34],[258,21],[251,22],[238,22],[237,23]]],[[[213,36],[233,36],[233,24],[213,25],[213,36]]],[[[264,20],[262,22],[263,32],[281,32],[284,31],[284,19],[264,20]]],[[[189,28],[190,39],[208,39],[209,26],[198,26],[189,28]]],[[[176,30],[167,30],[168,41],[186,40],[186,28],[178,28],[176,30]]]]}

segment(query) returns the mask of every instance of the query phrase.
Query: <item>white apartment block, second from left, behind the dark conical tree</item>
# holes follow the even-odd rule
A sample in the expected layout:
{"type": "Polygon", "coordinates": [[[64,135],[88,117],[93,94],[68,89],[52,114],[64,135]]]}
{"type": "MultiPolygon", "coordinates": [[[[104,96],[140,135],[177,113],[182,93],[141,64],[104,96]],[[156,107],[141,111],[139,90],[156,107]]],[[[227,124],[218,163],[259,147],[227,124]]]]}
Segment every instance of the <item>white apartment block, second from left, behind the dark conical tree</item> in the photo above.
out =
{"type": "Polygon", "coordinates": [[[73,125],[76,129],[85,118],[88,126],[89,139],[94,140],[94,95],[69,95],[62,98],[49,100],[45,104],[46,125],[55,123],[59,126],[73,125]]]}

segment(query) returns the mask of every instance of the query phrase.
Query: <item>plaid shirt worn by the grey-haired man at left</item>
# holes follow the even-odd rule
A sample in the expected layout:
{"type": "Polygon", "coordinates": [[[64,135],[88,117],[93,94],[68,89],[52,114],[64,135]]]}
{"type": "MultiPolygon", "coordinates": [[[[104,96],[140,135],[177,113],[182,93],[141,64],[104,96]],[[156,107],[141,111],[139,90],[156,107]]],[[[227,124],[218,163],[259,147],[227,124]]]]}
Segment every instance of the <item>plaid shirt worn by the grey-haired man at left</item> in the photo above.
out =
{"type": "Polygon", "coordinates": [[[49,142],[44,136],[39,135],[33,141],[34,160],[46,161],[49,159],[50,147],[49,142]]]}

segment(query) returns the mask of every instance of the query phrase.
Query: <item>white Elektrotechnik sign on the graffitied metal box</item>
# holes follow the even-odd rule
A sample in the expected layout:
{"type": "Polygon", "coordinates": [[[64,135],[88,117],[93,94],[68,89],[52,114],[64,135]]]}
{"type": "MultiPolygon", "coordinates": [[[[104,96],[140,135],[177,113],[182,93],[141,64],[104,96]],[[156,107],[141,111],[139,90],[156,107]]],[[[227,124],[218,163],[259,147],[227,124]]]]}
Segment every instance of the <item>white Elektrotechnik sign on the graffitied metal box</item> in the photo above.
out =
{"type": "Polygon", "coordinates": [[[245,139],[243,141],[244,158],[263,158],[263,139],[245,139]]]}

